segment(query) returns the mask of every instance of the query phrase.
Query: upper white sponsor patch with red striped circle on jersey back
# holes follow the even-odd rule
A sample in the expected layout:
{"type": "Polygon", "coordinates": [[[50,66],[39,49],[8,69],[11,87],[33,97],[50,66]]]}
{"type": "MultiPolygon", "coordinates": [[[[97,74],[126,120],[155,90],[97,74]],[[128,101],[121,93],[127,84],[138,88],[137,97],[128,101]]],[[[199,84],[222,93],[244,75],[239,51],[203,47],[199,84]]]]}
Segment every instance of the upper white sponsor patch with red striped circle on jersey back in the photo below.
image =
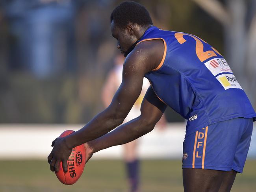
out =
{"type": "Polygon", "coordinates": [[[210,70],[210,72],[214,76],[224,72],[233,73],[230,67],[228,66],[226,60],[223,58],[211,59],[210,61],[204,63],[204,65],[210,70]]]}

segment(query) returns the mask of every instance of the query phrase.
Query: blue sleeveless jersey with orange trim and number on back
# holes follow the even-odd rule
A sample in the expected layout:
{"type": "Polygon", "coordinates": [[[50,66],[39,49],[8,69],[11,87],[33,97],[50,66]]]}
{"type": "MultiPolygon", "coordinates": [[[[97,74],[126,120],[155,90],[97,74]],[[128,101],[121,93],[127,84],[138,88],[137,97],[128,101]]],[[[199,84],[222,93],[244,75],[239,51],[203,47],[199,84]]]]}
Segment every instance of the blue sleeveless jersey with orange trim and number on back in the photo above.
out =
{"type": "Polygon", "coordinates": [[[210,44],[155,26],[138,43],[151,39],[162,39],[165,50],[160,65],[145,77],[160,100],[188,120],[187,134],[232,118],[256,117],[230,66],[210,44]]]}

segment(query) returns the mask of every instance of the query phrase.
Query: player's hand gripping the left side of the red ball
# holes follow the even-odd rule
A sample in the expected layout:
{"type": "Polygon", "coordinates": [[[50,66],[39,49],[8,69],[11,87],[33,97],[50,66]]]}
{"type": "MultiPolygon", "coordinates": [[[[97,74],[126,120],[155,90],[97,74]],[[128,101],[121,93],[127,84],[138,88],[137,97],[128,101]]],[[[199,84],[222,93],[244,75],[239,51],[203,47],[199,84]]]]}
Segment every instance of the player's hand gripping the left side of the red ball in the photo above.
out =
{"type": "Polygon", "coordinates": [[[62,162],[63,171],[67,172],[67,160],[71,154],[72,148],[68,148],[65,139],[58,137],[52,142],[52,152],[48,156],[50,170],[59,172],[59,164],[62,162]]]}

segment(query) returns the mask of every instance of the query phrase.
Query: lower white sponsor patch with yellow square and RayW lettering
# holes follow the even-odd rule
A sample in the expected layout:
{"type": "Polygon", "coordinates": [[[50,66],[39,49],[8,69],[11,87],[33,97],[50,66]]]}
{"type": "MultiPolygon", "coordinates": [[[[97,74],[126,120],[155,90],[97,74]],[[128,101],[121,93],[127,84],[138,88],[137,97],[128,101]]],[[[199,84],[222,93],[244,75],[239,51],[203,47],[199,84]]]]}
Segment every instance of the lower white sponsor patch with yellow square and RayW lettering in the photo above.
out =
{"type": "Polygon", "coordinates": [[[216,77],[225,90],[230,88],[242,89],[233,74],[222,74],[216,77]]]}

